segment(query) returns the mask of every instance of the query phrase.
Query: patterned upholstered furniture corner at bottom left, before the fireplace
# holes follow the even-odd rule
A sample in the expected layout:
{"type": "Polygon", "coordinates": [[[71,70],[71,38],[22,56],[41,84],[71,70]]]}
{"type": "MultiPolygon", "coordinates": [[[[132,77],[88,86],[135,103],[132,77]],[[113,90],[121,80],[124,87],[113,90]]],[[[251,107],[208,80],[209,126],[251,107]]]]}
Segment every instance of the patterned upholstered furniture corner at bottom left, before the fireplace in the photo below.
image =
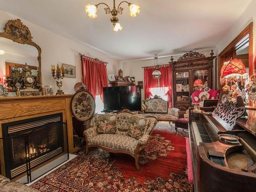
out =
{"type": "Polygon", "coordinates": [[[0,191],[2,192],[39,192],[38,190],[31,188],[25,184],[12,182],[10,179],[0,175],[0,191]]]}

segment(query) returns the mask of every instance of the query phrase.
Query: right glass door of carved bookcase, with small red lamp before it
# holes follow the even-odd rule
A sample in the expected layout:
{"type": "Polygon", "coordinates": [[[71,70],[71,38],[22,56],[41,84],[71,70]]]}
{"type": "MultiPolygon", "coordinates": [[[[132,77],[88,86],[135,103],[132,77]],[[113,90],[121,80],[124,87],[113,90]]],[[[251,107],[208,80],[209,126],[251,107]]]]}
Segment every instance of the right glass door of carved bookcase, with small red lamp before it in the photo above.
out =
{"type": "Polygon", "coordinates": [[[201,90],[208,87],[208,70],[193,71],[193,91],[201,90]]]}

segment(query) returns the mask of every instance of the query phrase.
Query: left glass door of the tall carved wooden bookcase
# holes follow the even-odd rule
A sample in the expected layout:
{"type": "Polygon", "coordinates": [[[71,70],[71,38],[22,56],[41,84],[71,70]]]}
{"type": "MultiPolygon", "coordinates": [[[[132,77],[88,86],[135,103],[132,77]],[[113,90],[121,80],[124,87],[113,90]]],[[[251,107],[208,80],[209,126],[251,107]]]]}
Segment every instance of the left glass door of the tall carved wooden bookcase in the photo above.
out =
{"type": "Polygon", "coordinates": [[[189,71],[175,73],[176,101],[189,101],[189,71]]]}

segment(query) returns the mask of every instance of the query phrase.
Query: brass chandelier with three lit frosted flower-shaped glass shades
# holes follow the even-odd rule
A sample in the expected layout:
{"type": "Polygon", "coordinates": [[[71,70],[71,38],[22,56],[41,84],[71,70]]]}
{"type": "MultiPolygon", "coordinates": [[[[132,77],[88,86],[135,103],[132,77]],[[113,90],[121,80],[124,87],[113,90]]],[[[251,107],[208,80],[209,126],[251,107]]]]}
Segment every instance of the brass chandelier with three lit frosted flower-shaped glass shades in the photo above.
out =
{"type": "Polygon", "coordinates": [[[110,7],[108,5],[106,5],[105,3],[99,3],[99,4],[96,4],[96,5],[91,5],[91,4],[87,4],[86,5],[86,12],[88,13],[88,16],[91,17],[91,18],[96,18],[97,17],[97,8],[99,5],[103,4],[106,6],[106,8],[104,8],[105,10],[105,14],[112,14],[112,17],[111,17],[111,22],[113,24],[113,30],[115,32],[117,31],[121,31],[123,27],[121,27],[121,25],[119,24],[119,20],[118,18],[116,17],[118,14],[122,14],[123,13],[123,8],[120,6],[122,3],[127,3],[129,8],[130,8],[130,16],[132,17],[136,17],[137,14],[139,14],[140,12],[140,6],[139,4],[132,4],[132,3],[129,3],[129,2],[126,2],[126,1],[122,1],[117,9],[116,9],[116,1],[114,0],[114,6],[113,6],[113,9],[111,10],[110,7]]]}

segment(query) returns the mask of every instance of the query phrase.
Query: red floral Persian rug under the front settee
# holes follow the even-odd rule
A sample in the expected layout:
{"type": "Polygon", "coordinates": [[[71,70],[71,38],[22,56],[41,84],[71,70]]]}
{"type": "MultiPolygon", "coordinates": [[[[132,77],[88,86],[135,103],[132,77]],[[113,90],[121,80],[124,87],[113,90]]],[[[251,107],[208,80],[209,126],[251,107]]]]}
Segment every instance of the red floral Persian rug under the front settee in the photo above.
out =
{"type": "Polygon", "coordinates": [[[140,154],[138,172],[134,158],[91,148],[31,185],[40,191],[193,191],[186,174],[184,137],[154,130],[140,154]]]}

